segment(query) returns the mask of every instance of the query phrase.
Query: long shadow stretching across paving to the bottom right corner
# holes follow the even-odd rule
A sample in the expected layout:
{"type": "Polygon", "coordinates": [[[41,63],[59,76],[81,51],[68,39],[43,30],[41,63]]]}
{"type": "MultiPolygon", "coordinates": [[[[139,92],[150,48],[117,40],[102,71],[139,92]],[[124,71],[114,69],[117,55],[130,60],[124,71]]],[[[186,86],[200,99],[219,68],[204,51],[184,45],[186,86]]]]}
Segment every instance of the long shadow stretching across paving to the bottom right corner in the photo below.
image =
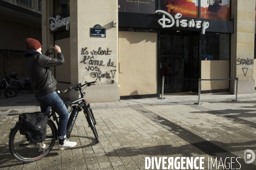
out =
{"type": "MultiPolygon", "coordinates": [[[[227,150],[238,150],[244,151],[247,150],[249,147],[247,145],[255,145],[256,141],[250,142],[241,142],[241,143],[223,143],[217,141],[205,141],[205,142],[196,142],[192,143],[193,146],[198,147],[198,149],[194,149],[191,144],[185,144],[180,147],[173,147],[170,144],[166,145],[159,145],[154,147],[141,147],[141,148],[134,148],[134,147],[123,147],[120,149],[113,150],[111,152],[107,152],[107,156],[120,156],[120,157],[130,157],[130,156],[141,156],[146,155],[147,157],[163,157],[163,156],[173,156],[174,158],[177,157],[178,154],[182,154],[183,157],[193,157],[195,158],[195,153],[200,155],[204,155],[205,153],[209,155],[209,157],[213,157],[215,159],[220,160],[220,158],[224,160],[226,158],[237,158],[238,162],[232,162],[232,167],[239,169],[239,167],[243,167],[245,170],[255,170],[256,166],[254,164],[245,164],[244,158],[234,155],[227,150]],[[214,144],[215,147],[212,147],[214,144]],[[219,147],[220,146],[220,147],[219,147]],[[222,149],[221,147],[225,146],[227,150],[222,149]],[[238,147],[241,146],[241,147],[238,147]],[[202,147],[204,149],[202,150],[202,147]],[[235,148],[234,148],[235,147],[235,148]]],[[[250,147],[251,150],[255,150],[256,147],[250,147]]],[[[205,158],[207,161],[207,158],[205,158]]],[[[229,166],[229,162],[225,161],[226,166],[229,166]]]]}

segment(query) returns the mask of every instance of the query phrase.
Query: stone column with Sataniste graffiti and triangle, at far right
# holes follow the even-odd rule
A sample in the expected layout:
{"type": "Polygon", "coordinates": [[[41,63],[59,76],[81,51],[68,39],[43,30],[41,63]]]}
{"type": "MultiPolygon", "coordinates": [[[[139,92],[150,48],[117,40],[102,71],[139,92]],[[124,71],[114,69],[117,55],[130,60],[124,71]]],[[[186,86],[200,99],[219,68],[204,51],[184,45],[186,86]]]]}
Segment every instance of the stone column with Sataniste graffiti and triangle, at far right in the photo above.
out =
{"type": "MultiPolygon", "coordinates": [[[[238,94],[253,94],[255,3],[256,0],[232,0],[231,17],[234,34],[231,35],[230,77],[239,78],[238,94]]],[[[230,81],[230,92],[235,93],[235,82],[230,81]]]]}

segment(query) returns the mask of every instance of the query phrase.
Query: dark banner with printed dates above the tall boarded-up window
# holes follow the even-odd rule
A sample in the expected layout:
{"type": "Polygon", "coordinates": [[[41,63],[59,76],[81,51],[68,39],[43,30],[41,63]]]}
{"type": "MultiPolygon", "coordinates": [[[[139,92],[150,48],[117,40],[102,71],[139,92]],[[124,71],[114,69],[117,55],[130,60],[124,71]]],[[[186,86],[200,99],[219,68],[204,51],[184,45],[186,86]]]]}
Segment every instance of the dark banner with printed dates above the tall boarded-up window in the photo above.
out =
{"type": "Polygon", "coordinates": [[[118,11],[154,14],[155,0],[118,0],[118,11]]]}

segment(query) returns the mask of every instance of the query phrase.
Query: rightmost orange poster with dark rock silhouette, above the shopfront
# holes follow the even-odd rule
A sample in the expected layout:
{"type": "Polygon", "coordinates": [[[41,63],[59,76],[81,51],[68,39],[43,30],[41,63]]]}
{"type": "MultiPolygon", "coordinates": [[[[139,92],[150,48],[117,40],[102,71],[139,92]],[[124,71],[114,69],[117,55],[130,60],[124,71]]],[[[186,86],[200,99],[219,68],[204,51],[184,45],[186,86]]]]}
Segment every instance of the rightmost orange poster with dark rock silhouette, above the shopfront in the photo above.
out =
{"type": "Polygon", "coordinates": [[[230,0],[201,0],[201,18],[230,20],[230,0]]]}

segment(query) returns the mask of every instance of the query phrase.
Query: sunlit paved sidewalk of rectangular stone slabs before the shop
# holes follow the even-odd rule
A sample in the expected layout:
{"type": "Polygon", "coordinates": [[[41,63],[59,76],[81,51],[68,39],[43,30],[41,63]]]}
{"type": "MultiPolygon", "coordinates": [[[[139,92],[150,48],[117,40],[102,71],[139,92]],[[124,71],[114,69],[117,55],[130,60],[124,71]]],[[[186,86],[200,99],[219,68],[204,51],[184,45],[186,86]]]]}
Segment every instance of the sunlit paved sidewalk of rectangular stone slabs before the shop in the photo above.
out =
{"type": "MultiPolygon", "coordinates": [[[[240,157],[241,170],[256,170],[256,161],[244,163],[244,150],[256,153],[256,94],[239,95],[241,102],[232,102],[234,98],[201,96],[203,106],[194,105],[198,98],[192,95],[91,104],[99,144],[85,116],[79,114],[70,137],[78,145],[64,151],[55,146],[47,157],[29,164],[11,156],[8,135],[17,115],[40,111],[39,104],[33,94],[26,99],[2,99],[0,169],[137,170],[145,169],[145,157],[204,157],[203,167],[208,169],[208,158],[216,158],[219,165],[220,158],[224,163],[227,157],[240,157]]],[[[233,168],[239,169],[239,164],[233,163],[233,168]]]]}

